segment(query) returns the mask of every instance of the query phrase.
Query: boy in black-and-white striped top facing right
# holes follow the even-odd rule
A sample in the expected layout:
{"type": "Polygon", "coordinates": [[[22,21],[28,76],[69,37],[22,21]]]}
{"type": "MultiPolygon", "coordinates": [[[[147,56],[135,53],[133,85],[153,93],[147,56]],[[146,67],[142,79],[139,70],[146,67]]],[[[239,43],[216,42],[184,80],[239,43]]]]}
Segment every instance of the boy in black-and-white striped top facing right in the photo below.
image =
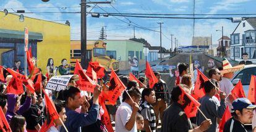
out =
{"type": "Polygon", "coordinates": [[[139,112],[144,118],[144,130],[156,131],[156,115],[151,104],[156,102],[155,91],[150,88],[145,88],[142,91],[142,103],[140,103],[139,112]]]}

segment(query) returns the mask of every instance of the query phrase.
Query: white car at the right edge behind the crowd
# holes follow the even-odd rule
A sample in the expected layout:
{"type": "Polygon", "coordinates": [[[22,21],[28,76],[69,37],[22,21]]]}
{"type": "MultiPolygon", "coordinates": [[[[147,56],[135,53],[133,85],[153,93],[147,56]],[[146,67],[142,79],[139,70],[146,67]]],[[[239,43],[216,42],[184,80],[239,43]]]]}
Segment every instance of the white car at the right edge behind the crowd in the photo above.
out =
{"type": "Polygon", "coordinates": [[[250,85],[250,77],[252,75],[256,75],[256,64],[245,65],[244,69],[242,69],[241,71],[237,71],[234,74],[231,82],[233,83],[233,85],[236,85],[239,80],[241,80],[245,96],[247,96],[250,85]]]}

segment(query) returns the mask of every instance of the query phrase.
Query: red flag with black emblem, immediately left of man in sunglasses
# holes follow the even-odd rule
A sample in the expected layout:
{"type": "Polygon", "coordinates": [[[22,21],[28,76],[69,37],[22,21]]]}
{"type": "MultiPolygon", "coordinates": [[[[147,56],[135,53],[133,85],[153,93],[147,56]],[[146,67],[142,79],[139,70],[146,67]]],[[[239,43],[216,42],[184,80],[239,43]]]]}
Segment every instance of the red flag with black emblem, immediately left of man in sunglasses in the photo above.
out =
{"type": "Polygon", "coordinates": [[[208,80],[209,79],[199,69],[197,69],[197,81],[195,82],[195,88],[192,91],[192,96],[195,99],[199,100],[205,96],[205,89],[203,88],[203,85],[208,80]]]}

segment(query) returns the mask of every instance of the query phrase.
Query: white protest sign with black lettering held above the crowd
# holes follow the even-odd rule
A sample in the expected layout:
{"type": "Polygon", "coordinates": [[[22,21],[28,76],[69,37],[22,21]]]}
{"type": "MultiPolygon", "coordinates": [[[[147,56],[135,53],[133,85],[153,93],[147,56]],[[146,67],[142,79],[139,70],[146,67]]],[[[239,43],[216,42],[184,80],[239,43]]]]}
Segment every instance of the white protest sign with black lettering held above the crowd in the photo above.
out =
{"type": "Polygon", "coordinates": [[[46,89],[53,90],[53,91],[61,91],[67,88],[67,85],[69,84],[69,80],[74,75],[66,75],[66,76],[53,76],[51,79],[49,79],[46,89]]]}

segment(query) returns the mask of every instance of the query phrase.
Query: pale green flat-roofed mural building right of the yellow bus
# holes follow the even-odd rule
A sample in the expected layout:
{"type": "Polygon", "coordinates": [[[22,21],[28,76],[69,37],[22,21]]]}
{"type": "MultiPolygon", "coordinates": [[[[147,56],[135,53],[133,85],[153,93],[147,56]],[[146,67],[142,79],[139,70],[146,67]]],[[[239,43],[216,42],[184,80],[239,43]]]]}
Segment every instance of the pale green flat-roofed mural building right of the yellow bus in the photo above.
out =
{"type": "Polygon", "coordinates": [[[129,56],[133,58],[137,56],[139,64],[145,63],[145,55],[142,52],[143,44],[130,40],[106,40],[106,54],[112,55],[114,59],[119,61],[119,69],[130,69],[129,56]]]}

